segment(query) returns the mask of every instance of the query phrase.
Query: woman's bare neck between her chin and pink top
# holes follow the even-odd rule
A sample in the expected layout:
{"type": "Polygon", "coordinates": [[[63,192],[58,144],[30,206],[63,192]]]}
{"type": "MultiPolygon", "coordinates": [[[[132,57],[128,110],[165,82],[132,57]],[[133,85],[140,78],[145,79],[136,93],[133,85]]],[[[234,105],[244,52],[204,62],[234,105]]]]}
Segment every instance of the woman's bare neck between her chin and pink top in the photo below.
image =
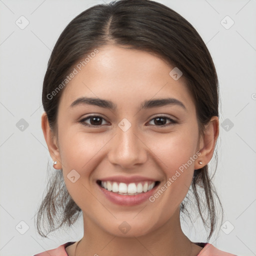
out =
{"type": "Polygon", "coordinates": [[[110,234],[84,215],[83,225],[84,235],[76,248],[75,256],[190,256],[197,255],[199,251],[195,248],[197,245],[191,243],[181,230],[179,209],[164,225],[141,236],[122,237],[110,234]]]}

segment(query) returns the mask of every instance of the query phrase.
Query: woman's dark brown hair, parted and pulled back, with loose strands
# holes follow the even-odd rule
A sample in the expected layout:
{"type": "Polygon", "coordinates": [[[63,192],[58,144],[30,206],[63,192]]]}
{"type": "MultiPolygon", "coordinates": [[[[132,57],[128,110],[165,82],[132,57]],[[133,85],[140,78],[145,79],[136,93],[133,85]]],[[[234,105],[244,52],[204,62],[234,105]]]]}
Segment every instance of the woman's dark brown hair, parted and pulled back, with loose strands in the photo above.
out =
{"type": "MultiPolygon", "coordinates": [[[[109,43],[157,54],[178,67],[194,100],[200,132],[212,116],[218,116],[215,67],[194,27],[163,4],[151,0],[119,0],[94,5],[81,12],[65,27],[52,50],[43,80],[42,104],[54,132],[57,130],[56,117],[63,88],[54,98],[49,95],[82,57],[109,43]]],[[[221,206],[211,180],[206,165],[194,170],[189,189],[205,228],[209,227],[207,241],[217,223],[216,199],[221,206]],[[205,211],[207,214],[203,216],[205,211]]],[[[190,201],[188,194],[180,204],[181,213],[188,213],[185,207],[190,201]]],[[[65,187],[62,169],[55,171],[37,212],[37,231],[46,237],[41,231],[41,221],[45,217],[51,232],[64,224],[73,224],[80,212],[65,187]]]]}

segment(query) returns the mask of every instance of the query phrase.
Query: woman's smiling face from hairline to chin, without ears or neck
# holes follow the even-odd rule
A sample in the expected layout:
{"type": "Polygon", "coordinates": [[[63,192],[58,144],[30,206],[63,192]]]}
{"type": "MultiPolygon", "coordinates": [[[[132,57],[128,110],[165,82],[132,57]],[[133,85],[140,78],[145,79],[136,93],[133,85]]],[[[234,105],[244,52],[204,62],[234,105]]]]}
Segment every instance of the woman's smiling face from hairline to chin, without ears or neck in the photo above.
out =
{"type": "Polygon", "coordinates": [[[146,234],[178,216],[200,167],[192,97],[183,77],[169,74],[174,66],[148,52],[106,45],[79,67],[57,115],[67,190],[88,225],[146,234]],[[80,97],[94,101],[72,105],[80,97]]]}

